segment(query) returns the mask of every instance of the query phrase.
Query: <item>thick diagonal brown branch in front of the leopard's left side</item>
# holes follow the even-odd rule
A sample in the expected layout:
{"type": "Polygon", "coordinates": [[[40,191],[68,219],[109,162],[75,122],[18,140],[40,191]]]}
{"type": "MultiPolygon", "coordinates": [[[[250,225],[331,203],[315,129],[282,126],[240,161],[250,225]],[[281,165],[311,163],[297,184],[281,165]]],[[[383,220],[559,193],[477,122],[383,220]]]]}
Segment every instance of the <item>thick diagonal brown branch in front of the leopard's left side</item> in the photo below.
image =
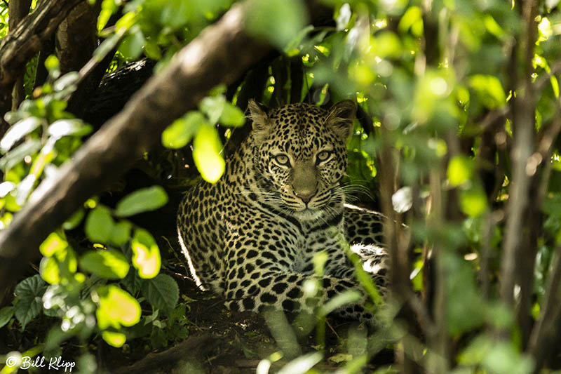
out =
{"type": "Polygon", "coordinates": [[[236,4],[154,76],[86,142],[55,180],[45,180],[0,236],[0,287],[37,255],[45,237],[89,196],[102,191],[163,129],[195,108],[210,88],[234,81],[269,51],[244,32],[248,3],[236,4]],[[232,63],[234,62],[235,63],[232,63]]]}

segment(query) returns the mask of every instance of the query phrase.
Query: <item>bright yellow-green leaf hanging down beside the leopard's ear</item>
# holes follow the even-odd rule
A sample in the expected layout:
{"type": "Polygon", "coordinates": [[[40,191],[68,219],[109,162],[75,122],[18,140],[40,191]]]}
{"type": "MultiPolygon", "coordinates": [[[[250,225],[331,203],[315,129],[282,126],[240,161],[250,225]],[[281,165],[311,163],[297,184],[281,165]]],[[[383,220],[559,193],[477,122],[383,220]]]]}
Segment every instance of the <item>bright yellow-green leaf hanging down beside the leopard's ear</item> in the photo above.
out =
{"type": "Polygon", "coordinates": [[[193,142],[193,159],[204,180],[215,183],[224,173],[226,163],[220,155],[222,142],[216,128],[203,126],[193,142]]]}

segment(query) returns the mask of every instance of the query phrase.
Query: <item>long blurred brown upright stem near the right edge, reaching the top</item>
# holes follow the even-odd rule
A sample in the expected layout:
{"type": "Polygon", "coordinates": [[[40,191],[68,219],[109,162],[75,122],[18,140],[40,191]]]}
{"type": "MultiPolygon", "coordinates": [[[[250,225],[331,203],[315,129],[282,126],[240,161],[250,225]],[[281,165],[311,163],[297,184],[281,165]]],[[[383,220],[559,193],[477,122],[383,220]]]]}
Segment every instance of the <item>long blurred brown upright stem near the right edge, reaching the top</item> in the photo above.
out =
{"type": "MultiPolygon", "coordinates": [[[[521,256],[518,247],[522,220],[528,202],[530,187],[526,166],[532,156],[534,140],[534,86],[532,85],[532,58],[534,55],[534,39],[536,36],[535,0],[527,0],[524,4],[524,18],[526,20],[525,34],[525,70],[523,95],[520,100],[513,100],[513,133],[515,135],[513,147],[513,179],[511,196],[508,199],[508,219],[506,222],[503,260],[501,261],[501,300],[505,305],[514,304],[514,285],[516,272],[520,268],[520,261],[527,258],[521,256]]],[[[523,248],[522,248],[523,249],[523,248]]]]}

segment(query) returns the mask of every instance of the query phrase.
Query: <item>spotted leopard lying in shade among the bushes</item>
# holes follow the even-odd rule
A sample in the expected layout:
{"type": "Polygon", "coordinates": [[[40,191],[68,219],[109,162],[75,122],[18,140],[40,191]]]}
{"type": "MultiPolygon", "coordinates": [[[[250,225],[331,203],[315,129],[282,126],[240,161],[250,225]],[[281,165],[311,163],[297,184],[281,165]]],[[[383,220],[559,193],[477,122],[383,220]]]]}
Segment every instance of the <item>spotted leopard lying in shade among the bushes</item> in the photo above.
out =
{"type": "Polygon", "coordinates": [[[310,279],[320,285],[320,303],[358,290],[358,301],[332,314],[372,321],[372,303],[349,253],[359,256],[382,295],[388,253],[384,216],[347,203],[346,142],[355,102],[269,109],[250,100],[246,116],[250,133],[227,157],[222,178],[199,182],[180,203],[177,234],[191,276],[241,312],[306,311],[310,279]],[[327,255],[322,274],[314,266],[318,253],[327,255]]]}

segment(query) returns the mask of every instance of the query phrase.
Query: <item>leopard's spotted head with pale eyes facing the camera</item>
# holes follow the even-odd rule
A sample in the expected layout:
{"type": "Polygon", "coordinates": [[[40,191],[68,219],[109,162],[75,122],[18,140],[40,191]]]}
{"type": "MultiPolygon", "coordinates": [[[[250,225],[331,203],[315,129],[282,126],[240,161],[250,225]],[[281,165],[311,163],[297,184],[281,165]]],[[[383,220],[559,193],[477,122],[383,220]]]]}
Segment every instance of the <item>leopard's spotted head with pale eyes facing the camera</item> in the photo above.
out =
{"type": "Polygon", "coordinates": [[[249,110],[253,164],[264,203],[299,220],[339,211],[356,105],[344,100],[325,110],[299,103],[267,111],[250,101],[249,110]]]}

